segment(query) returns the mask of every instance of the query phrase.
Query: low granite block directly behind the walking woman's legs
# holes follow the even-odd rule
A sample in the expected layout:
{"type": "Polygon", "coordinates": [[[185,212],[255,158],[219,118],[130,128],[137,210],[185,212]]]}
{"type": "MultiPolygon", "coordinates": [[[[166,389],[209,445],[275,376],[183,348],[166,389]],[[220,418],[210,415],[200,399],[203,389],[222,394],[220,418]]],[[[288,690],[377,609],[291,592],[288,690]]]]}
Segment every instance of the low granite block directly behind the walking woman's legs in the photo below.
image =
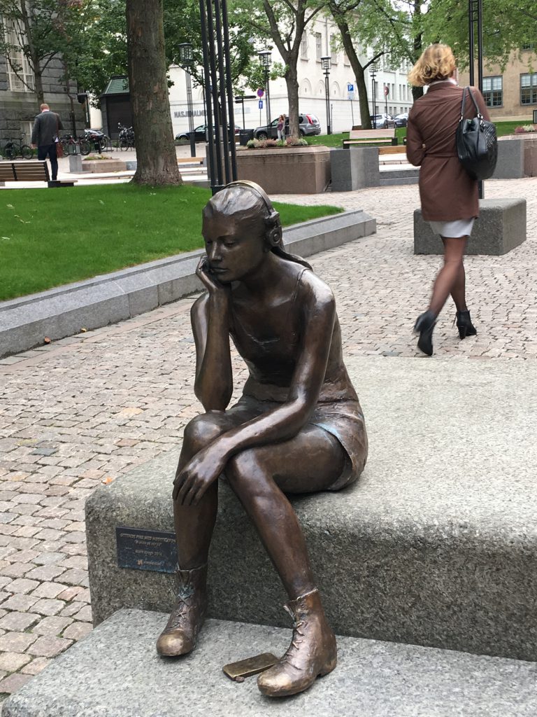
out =
{"type": "MultiPolygon", "coordinates": [[[[526,199],[480,199],[479,217],[473,225],[467,254],[507,254],[526,241],[526,199]]],[[[439,234],[414,211],[414,253],[443,254],[439,234]]]]}

